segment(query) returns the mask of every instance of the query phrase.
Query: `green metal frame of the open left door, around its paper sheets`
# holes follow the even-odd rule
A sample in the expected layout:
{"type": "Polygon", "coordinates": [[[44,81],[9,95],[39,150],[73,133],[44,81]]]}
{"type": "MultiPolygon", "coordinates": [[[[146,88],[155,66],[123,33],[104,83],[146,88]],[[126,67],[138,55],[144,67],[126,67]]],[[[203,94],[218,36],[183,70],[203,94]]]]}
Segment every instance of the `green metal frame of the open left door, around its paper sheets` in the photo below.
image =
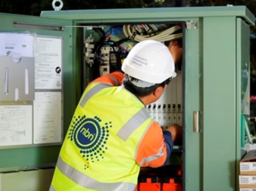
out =
{"type": "MultiPolygon", "coordinates": [[[[62,30],[51,30],[47,27],[72,25],[72,21],[39,18],[37,16],[24,16],[0,13],[0,31],[29,31],[37,35],[61,36],[63,38],[63,133],[65,134],[69,126],[73,111],[76,107],[77,94],[80,97],[80,80],[78,72],[78,58],[74,47],[77,35],[72,27],[65,27],[62,30]],[[20,24],[19,27],[13,25],[14,22],[20,24]]],[[[79,60],[80,61],[80,60],[79,60]]],[[[54,165],[58,158],[60,145],[29,145],[17,146],[16,148],[0,149],[0,171],[22,170],[36,168],[38,166],[54,165]]]]}

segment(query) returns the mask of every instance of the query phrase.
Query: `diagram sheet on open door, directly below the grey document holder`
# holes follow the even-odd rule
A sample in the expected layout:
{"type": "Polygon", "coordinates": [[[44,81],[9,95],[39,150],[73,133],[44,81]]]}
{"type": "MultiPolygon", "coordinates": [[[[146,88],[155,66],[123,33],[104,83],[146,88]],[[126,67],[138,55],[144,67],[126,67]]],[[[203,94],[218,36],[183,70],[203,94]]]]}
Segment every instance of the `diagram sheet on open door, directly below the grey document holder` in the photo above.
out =
{"type": "Polygon", "coordinates": [[[32,144],[32,106],[0,106],[0,146],[32,144]]]}

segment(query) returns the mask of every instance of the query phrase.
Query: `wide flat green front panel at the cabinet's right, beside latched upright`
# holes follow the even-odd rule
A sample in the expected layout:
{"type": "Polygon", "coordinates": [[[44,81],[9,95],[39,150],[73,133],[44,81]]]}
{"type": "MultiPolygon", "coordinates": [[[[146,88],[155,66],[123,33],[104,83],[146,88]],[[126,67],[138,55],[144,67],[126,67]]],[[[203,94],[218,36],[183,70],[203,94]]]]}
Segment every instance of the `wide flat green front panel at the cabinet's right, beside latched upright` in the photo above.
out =
{"type": "Polygon", "coordinates": [[[236,17],[204,18],[203,190],[236,188],[236,17]]]}

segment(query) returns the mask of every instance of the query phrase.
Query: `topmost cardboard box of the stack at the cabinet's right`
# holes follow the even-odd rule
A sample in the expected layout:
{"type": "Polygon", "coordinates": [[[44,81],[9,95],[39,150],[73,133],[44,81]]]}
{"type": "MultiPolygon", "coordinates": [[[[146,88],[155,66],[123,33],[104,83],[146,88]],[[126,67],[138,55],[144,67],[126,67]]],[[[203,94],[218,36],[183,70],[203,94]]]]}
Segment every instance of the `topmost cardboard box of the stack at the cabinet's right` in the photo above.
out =
{"type": "Polygon", "coordinates": [[[256,150],[248,151],[240,161],[240,175],[256,175],[256,150]]]}

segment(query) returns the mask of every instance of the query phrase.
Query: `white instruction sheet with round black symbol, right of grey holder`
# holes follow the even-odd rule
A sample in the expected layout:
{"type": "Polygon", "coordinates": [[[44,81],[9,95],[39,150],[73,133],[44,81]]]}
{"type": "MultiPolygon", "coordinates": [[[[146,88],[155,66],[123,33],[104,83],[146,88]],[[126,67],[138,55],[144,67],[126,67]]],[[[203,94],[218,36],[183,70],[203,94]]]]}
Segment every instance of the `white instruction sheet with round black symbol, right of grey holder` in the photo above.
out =
{"type": "Polygon", "coordinates": [[[34,39],[35,89],[62,88],[62,38],[34,39]]]}

